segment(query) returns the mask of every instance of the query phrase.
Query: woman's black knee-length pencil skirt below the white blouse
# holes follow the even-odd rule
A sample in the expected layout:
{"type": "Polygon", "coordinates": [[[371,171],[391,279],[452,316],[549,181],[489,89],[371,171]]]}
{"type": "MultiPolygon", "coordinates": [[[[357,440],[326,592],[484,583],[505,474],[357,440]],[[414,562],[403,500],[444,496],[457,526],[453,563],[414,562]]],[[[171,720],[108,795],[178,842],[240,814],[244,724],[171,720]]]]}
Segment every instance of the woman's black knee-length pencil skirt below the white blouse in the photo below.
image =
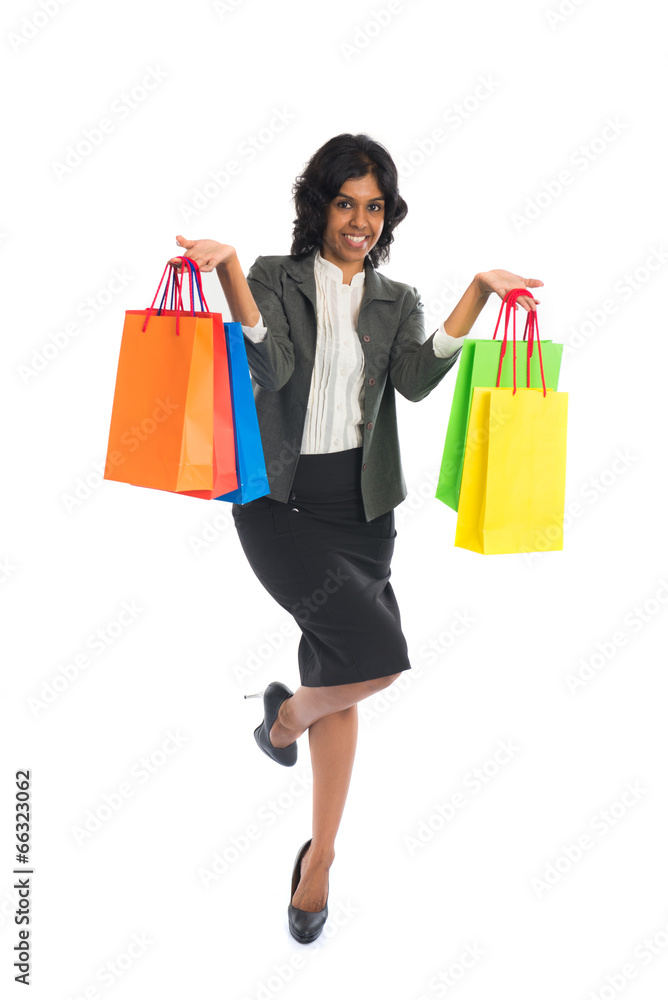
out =
{"type": "Polygon", "coordinates": [[[390,583],[394,511],[366,521],[362,448],[300,455],[288,503],[232,504],[241,546],[262,586],[299,625],[306,687],[410,669],[390,583]]]}

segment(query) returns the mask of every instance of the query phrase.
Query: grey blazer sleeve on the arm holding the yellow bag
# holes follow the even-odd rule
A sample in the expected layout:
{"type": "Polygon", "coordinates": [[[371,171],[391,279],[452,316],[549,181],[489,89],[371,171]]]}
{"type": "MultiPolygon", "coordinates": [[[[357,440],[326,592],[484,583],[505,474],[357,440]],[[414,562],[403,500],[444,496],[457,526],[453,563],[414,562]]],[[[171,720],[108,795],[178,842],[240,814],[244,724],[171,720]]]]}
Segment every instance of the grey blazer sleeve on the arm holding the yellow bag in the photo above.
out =
{"type": "MultiPolygon", "coordinates": [[[[404,298],[403,317],[390,349],[390,381],[394,388],[416,403],[428,396],[459,357],[459,351],[449,358],[434,354],[436,331],[425,340],[424,307],[417,288],[404,298]]],[[[463,342],[462,342],[463,343],[463,342]]]]}

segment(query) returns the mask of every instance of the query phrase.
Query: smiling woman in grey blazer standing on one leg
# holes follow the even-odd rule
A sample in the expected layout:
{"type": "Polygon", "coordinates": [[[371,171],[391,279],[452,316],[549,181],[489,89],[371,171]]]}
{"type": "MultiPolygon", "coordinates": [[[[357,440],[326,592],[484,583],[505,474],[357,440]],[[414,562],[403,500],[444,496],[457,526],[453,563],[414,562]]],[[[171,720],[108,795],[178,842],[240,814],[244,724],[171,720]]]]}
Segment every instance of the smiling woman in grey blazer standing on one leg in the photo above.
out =
{"type": "Polygon", "coordinates": [[[266,688],[255,738],[289,766],[309,733],[313,832],[297,854],[288,907],[290,931],[306,943],[327,918],[357,703],[410,669],[389,582],[394,507],[406,496],[394,390],[424,398],[490,294],[543,282],[477,274],[425,339],[417,290],[376,271],[407,212],[387,150],[364,134],[338,135],[312,156],[293,196],[290,254],[258,257],[247,280],[232,246],[177,242],[202,271],[216,268],[242,324],[270,492],[232,511],[253,571],[302,631],[301,686],[266,688]]]}

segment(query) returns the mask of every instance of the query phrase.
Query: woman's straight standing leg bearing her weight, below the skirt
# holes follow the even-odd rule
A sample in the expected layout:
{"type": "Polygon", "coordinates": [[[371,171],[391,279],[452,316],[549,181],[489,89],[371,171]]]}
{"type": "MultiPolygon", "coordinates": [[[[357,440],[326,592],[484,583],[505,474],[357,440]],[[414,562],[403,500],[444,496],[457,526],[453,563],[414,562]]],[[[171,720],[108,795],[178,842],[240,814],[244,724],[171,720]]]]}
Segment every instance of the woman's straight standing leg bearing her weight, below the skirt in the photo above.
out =
{"type": "Polygon", "coordinates": [[[323,716],[309,727],[313,765],[313,838],[302,859],[292,905],[311,912],[327,901],[334,840],[346,803],[357,746],[357,705],[323,716]]]}

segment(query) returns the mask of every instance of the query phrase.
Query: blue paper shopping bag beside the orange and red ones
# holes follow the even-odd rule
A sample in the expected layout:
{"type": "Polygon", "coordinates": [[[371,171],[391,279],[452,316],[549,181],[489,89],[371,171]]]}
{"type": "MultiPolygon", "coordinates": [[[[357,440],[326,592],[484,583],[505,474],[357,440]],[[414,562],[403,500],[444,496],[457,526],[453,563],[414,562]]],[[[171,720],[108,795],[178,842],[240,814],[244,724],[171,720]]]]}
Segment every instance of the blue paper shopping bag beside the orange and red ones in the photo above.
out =
{"type": "Polygon", "coordinates": [[[239,483],[236,489],[216,499],[243,504],[266,496],[269,493],[269,481],[241,323],[225,323],[225,337],[239,483]]]}

